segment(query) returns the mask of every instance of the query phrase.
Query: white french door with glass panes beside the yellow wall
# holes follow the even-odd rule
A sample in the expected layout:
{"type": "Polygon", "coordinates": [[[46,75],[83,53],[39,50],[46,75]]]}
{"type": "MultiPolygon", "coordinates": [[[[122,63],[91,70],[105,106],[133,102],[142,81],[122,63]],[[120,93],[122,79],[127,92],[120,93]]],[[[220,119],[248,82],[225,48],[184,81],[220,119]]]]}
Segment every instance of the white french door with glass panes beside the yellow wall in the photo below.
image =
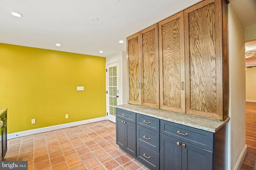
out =
{"type": "Polygon", "coordinates": [[[116,123],[116,105],[119,102],[119,62],[106,65],[107,119],[116,123]]]}

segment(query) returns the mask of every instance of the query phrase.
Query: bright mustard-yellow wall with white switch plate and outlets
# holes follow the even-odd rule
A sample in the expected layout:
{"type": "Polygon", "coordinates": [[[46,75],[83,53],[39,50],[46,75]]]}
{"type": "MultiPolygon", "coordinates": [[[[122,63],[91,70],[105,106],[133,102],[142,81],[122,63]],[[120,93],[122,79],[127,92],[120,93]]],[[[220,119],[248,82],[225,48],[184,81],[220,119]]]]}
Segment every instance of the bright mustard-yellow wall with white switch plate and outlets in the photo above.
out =
{"type": "Polygon", "coordinates": [[[0,43],[0,108],[8,108],[8,133],[106,116],[105,67],[104,57],[0,43]]]}

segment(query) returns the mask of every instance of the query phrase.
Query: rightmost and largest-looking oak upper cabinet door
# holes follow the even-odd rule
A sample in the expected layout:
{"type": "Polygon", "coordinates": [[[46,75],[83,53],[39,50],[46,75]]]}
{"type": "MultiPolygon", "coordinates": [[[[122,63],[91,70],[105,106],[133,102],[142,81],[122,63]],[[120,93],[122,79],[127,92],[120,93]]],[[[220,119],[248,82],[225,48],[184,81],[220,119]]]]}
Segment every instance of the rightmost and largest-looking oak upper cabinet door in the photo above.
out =
{"type": "Polygon", "coordinates": [[[222,1],[184,11],[186,113],[223,119],[222,1]]]}

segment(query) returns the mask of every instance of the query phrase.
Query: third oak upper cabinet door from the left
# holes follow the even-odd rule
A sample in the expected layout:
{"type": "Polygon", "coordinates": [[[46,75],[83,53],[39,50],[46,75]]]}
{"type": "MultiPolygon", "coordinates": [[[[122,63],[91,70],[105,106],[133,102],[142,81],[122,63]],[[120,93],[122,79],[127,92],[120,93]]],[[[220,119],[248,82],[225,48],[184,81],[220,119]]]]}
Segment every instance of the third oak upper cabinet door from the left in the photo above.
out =
{"type": "Polygon", "coordinates": [[[183,12],[158,23],[160,109],[185,113],[183,12]]]}

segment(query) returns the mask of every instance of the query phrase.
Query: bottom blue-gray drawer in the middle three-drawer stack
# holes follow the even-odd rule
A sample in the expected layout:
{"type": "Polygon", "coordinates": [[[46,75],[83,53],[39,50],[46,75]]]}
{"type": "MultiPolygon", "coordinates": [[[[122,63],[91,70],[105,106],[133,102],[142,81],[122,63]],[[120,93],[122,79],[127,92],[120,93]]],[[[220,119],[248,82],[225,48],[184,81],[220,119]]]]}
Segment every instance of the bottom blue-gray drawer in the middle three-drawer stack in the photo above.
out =
{"type": "Polygon", "coordinates": [[[159,153],[137,142],[137,158],[152,170],[159,170],[159,153]]]}

